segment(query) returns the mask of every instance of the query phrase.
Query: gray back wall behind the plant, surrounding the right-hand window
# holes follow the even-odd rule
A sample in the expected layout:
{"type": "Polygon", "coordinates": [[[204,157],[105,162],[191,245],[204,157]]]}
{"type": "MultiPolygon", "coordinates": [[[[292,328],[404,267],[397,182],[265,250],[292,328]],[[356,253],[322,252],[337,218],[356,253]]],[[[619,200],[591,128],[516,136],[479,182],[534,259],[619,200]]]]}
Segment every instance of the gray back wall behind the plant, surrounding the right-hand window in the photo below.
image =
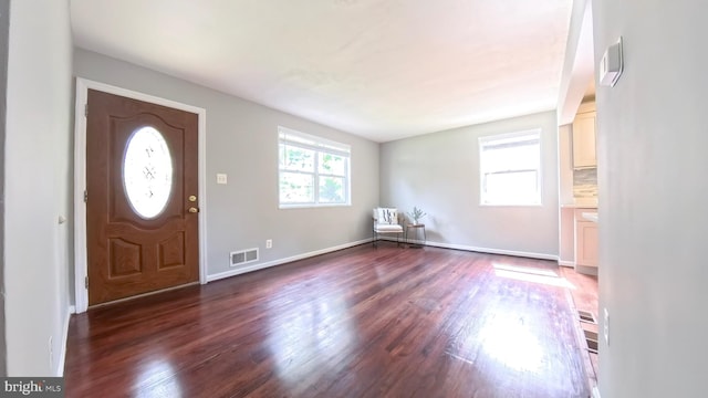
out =
{"type": "Polygon", "coordinates": [[[558,125],[554,112],[382,144],[381,203],[428,216],[428,241],[442,247],[556,258],[558,125]],[[478,137],[542,129],[542,206],[479,206],[478,137]]]}

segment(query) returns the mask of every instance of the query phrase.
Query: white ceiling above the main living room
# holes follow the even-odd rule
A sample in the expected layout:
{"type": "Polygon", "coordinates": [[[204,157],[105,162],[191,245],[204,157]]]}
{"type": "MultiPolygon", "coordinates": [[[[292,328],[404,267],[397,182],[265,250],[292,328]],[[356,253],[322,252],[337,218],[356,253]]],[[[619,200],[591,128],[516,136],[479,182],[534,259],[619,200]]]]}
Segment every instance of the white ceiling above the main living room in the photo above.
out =
{"type": "Polygon", "coordinates": [[[554,109],[572,0],[72,0],[76,46],[375,142],[554,109]]]}

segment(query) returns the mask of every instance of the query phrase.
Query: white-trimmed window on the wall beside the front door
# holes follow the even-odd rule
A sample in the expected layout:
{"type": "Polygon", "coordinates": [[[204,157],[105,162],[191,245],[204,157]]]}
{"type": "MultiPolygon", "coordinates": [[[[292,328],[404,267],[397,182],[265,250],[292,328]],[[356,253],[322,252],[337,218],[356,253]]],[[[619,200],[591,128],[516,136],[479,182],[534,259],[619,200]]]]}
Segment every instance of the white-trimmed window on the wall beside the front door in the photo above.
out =
{"type": "Polygon", "coordinates": [[[351,203],[348,145],[278,127],[280,208],[351,203]]]}

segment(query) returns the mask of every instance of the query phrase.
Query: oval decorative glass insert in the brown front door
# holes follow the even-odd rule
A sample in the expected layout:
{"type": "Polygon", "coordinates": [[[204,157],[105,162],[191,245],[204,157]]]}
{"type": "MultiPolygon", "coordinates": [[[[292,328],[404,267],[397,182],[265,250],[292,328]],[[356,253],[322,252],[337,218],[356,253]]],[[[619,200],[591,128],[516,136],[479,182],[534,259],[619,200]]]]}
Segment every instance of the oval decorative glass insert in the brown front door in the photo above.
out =
{"type": "Polygon", "coordinates": [[[165,210],[173,189],[173,157],[165,137],[155,128],[140,127],[128,138],[123,186],[142,218],[153,219],[165,210]]]}

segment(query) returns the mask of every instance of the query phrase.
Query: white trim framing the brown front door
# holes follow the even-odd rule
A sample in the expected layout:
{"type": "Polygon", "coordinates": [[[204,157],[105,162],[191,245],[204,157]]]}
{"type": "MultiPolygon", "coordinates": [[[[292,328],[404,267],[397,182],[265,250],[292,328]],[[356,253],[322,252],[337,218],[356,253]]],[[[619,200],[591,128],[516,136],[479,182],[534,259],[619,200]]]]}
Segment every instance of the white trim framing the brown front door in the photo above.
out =
{"type": "Polygon", "coordinates": [[[170,100],[156,97],[105,83],[76,77],[76,103],[74,106],[74,297],[76,313],[88,308],[88,290],[85,280],[88,275],[86,260],[86,203],[83,200],[86,189],[86,117],[85,104],[88,90],[125,96],[133,100],[168,106],[175,109],[191,112],[198,115],[198,178],[199,178],[199,283],[207,283],[207,161],[206,161],[206,126],[205,108],[181,104],[170,100]]]}

